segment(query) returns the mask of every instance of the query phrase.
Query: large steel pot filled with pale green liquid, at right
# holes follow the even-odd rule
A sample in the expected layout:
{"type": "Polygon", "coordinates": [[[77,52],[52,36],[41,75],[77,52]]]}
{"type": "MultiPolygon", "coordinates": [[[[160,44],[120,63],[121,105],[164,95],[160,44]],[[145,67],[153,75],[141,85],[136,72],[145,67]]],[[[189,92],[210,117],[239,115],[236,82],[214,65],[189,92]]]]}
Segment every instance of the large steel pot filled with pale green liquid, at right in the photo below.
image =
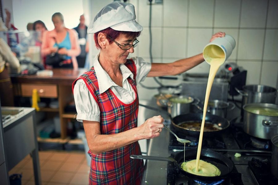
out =
{"type": "Polygon", "coordinates": [[[252,103],[244,105],[243,109],[244,132],[262,139],[271,139],[278,134],[278,105],[252,103]]]}

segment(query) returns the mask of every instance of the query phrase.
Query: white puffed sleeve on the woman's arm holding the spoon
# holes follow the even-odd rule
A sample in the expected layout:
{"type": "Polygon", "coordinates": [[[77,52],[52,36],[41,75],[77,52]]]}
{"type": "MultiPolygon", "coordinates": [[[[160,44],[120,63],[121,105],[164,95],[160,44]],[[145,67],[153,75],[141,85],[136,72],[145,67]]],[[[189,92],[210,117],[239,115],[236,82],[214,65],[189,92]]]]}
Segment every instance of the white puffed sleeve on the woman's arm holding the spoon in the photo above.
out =
{"type": "Polygon", "coordinates": [[[74,86],[74,101],[77,110],[77,121],[100,122],[99,106],[82,79],[77,80],[74,86]]]}

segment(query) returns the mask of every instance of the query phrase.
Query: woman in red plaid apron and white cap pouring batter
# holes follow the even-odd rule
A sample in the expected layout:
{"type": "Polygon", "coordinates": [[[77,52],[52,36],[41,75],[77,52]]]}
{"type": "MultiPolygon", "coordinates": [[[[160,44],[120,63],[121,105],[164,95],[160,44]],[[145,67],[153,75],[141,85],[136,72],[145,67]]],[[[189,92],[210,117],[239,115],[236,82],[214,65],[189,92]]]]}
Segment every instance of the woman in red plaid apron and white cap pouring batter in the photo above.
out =
{"type": "MultiPolygon", "coordinates": [[[[136,84],[146,76],[177,75],[204,61],[199,54],[173,63],[127,59],[143,27],[135,21],[132,4],[112,2],[95,16],[88,28],[100,50],[93,66],[73,83],[77,120],[83,121],[91,156],[90,184],[140,184],[143,161],[138,140],[158,137],[164,121],[154,116],[137,127],[136,84]]],[[[218,32],[213,40],[224,36],[218,32]]]]}

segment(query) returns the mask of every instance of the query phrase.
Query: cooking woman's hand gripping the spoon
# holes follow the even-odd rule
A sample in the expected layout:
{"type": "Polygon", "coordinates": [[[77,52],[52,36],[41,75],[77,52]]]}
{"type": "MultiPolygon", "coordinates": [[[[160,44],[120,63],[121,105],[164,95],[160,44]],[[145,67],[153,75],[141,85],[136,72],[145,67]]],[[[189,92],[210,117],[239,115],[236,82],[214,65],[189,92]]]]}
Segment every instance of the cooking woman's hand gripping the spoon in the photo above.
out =
{"type": "Polygon", "coordinates": [[[138,134],[143,137],[142,139],[158,137],[163,128],[163,122],[164,119],[160,115],[151,117],[138,127],[140,129],[138,134]]]}

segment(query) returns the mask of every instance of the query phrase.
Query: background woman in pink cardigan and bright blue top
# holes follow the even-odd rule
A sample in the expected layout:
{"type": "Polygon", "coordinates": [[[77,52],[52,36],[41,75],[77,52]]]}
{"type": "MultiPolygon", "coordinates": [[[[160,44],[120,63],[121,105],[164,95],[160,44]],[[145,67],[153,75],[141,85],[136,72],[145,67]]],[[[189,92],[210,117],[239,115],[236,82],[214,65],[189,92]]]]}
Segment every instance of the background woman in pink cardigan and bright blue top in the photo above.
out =
{"type": "Polygon", "coordinates": [[[53,68],[74,68],[78,69],[76,56],[81,52],[78,36],[75,30],[70,30],[64,25],[64,17],[61,13],[52,15],[54,30],[46,31],[43,34],[41,53],[43,56],[53,52],[67,55],[66,60],[60,64],[53,65],[53,68]]]}

